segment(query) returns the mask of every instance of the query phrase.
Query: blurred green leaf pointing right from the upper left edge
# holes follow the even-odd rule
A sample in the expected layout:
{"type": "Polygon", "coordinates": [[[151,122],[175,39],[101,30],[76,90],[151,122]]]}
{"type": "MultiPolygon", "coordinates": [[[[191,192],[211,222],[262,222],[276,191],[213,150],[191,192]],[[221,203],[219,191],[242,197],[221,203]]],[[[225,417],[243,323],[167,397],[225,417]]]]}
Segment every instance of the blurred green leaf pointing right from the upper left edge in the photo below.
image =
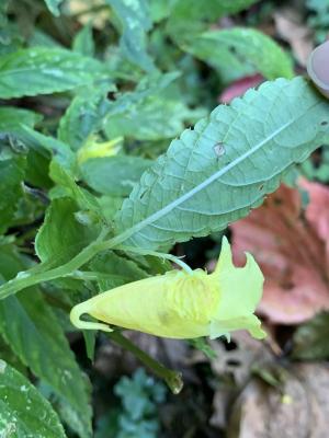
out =
{"type": "Polygon", "coordinates": [[[0,59],[0,97],[49,94],[106,79],[95,59],[60,49],[33,47],[0,59]]]}

